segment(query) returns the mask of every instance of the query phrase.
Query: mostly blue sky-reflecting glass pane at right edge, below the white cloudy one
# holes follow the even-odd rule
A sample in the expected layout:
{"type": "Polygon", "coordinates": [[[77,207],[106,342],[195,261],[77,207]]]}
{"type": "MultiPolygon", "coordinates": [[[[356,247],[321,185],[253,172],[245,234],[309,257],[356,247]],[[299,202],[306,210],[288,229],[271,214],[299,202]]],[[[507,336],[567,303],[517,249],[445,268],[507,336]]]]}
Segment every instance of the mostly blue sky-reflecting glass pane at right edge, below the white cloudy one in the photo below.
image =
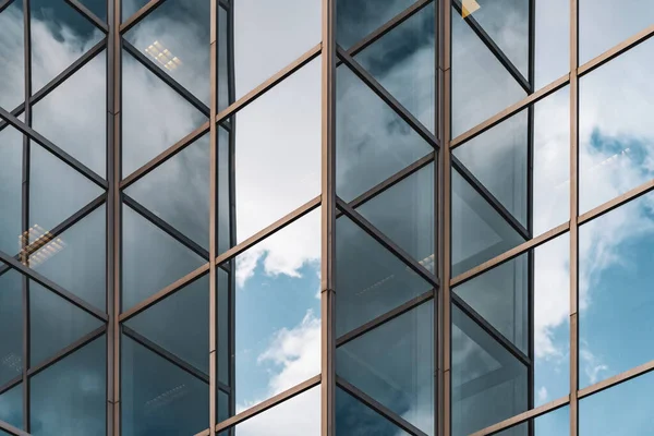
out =
{"type": "Polygon", "coordinates": [[[579,229],[580,387],[654,359],[653,194],[579,229]]]}

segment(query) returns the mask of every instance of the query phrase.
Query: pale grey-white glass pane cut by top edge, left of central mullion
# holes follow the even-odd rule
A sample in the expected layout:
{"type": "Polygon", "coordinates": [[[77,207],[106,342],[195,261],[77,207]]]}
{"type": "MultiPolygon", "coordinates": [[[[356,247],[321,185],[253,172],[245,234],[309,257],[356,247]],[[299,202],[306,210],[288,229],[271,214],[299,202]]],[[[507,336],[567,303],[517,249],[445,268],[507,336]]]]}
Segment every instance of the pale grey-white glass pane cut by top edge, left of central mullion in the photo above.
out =
{"type": "Polygon", "coordinates": [[[320,41],[319,0],[239,0],[232,9],[234,64],[227,68],[234,77],[235,99],[320,41]]]}

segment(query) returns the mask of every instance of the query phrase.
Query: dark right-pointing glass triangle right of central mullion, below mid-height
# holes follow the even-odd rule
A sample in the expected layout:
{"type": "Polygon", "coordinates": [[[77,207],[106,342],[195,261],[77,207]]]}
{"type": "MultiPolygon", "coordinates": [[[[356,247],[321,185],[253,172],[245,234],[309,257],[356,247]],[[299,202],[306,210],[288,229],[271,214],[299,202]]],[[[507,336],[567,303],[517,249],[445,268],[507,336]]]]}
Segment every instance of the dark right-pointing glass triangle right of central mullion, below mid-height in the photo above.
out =
{"type": "Polygon", "coordinates": [[[339,337],[432,289],[346,216],[336,221],[336,269],[339,337]]]}

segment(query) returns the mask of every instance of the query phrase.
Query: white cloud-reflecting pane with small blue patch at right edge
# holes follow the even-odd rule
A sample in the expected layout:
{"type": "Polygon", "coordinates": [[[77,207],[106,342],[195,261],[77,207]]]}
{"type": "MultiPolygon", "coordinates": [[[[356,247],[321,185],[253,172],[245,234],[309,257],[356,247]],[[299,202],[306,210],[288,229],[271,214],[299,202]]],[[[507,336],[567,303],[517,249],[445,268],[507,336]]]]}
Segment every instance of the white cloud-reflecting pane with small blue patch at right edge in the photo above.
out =
{"type": "Polygon", "coordinates": [[[652,57],[649,39],[579,81],[580,213],[654,178],[652,57]]]}

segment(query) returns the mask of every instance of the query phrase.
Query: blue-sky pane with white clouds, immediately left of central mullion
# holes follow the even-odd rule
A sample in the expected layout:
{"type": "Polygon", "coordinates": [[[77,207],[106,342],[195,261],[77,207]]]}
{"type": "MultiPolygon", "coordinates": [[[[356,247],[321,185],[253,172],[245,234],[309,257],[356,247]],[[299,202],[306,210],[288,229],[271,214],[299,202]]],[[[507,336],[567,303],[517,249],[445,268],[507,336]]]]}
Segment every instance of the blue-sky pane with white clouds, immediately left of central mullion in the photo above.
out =
{"type": "Polygon", "coordinates": [[[235,413],[319,374],[319,259],[316,209],[230,263],[235,413]]]}

